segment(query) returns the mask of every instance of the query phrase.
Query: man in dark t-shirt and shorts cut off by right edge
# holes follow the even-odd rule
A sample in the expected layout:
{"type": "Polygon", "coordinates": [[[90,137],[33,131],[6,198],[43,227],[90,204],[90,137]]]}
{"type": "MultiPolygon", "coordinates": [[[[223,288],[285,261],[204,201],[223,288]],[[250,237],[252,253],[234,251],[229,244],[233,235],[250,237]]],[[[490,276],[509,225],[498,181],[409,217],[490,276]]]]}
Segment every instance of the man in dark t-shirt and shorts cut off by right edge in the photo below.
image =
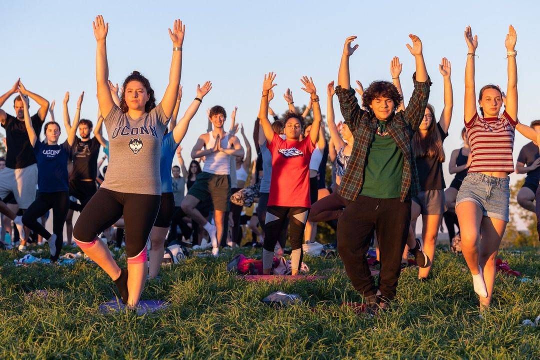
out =
{"type": "MultiPolygon", "coordinates": [[[[540,120],[532,121],[531,127],[540,132],[540,120]]],[[[524,209],[535,211],[535,194],[540,181],[540,152],[534,142],[522,147],[517,157],[516,173],[527,174],[525,184],[517,193],[517,202],[524,209]]]]}

